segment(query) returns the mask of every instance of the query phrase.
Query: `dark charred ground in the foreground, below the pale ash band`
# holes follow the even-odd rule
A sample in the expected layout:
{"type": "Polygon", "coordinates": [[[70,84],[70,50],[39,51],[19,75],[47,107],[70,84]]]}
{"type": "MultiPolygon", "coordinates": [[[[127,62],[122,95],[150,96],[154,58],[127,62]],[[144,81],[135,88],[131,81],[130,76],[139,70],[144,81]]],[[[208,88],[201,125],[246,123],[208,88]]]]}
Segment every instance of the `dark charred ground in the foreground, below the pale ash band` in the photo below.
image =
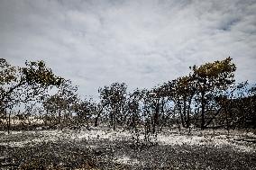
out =
{"type": "MultiPolygon", "coordinates": [[[[18,139],[10,136],[10,140],[18,139]]],[[[0,165],[0,169],[256,169],[256,151],[242,152],[228,145],[134,143],[130,139],[58,139],[23,147],[1,145],[0,165]]]]}

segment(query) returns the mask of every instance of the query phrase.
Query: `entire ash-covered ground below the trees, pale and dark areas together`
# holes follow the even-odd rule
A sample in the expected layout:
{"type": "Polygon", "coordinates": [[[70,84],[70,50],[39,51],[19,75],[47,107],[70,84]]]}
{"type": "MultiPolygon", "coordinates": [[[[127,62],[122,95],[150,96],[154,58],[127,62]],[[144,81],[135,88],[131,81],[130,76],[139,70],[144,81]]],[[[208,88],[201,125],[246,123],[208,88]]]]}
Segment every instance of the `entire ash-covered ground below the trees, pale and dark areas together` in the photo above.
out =
{"type": "Polygon", "coordinates": [[[256,169],[256,135],[163,130],[151,142],[127,130],[0,132],[0,169],[256,169]]]}

